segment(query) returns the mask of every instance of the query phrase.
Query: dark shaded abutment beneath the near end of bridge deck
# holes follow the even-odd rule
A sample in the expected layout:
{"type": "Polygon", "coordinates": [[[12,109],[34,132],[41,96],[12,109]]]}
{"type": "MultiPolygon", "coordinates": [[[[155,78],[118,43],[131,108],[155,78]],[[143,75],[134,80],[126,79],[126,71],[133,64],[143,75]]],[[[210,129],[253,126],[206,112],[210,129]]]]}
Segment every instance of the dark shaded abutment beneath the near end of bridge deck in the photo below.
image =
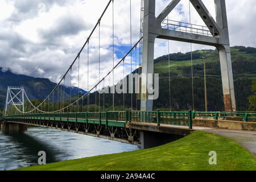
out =
{"type": "Polygon", "coordinates": [[[166,143],[174,142],[175,140],[183,137],[184,136],[182,135],[156,133],[152,131],[140,131],[141,146],[139,146],[139,148],[146,149],[157,147],[166,143]]]}

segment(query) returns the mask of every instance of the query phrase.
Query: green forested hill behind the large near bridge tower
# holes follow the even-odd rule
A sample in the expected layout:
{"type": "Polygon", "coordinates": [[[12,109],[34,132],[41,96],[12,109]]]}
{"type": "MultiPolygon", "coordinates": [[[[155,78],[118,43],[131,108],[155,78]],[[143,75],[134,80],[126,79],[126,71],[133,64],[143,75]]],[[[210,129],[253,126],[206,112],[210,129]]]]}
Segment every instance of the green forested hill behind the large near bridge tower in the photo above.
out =
{"type": "MultiPolygon", "coordinates": [[[[208,110],[224,110],[220,59],[217,50],[192,52],[195,110],[205,109],[204,100],[204,65],[207,72],[208,110]]],[[[248,97],[253,78],[256,77],[256,48],[236,46],[231,48],[234,89],[237,110],[249,108],[248,97]]],[[[191,53],[170,54],[170,82],[172,110],[192,109],[191,53]]],[[[154,72],[159,73],[159,98],[154,101],[154,109],[169,109],[169,64],[168,55],[155,59],[154,72]]],[[[133,96],[133,108],[136,108],[136,96],[133,96]]],[[[103,96],[101,96],[101,101],[103,96]]],[[[86,101],[85,101],[86,103],[86,101]]],[[[95,104],[95,94],[90,96],[90,103],[95,104]]],[[[97,102],[98,103],[98,102],[97,102]]],[[[103,106],[103,105],[102,105],[103,106]]],[[[111,109],[112,94],[105,94],[105,108],[111,109]]],[[[115,106],[123,106],[123,95],[115,94],[115,106]]],[[[125,106],[131,107],[131,96],[126,94],[125,106]]],[[[140,102],[137,102],[139,108],[140,102]]]]}

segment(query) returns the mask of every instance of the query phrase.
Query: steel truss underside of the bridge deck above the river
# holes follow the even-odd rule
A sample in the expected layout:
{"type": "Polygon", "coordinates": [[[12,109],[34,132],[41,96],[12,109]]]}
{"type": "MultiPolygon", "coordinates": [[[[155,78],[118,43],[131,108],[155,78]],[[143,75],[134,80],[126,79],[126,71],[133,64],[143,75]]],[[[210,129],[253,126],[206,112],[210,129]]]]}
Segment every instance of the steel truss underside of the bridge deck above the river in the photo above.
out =
{"type": "Polygon", "coordinates": [[[126,128],[126,122],[123,121],[108,121],[106,125],[106,121],[94,119],[77,119],[76,121],[75,118],[9,118],[7,122],[41,126],[123,143],[139,144],[139,131],[126,128]]]}

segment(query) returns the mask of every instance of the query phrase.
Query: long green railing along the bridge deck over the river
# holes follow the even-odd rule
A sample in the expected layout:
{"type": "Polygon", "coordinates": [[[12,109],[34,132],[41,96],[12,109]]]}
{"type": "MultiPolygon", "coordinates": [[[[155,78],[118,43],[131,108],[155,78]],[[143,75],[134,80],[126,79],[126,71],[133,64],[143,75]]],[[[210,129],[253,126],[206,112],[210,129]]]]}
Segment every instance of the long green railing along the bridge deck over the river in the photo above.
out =
{"type": "Polygon", "coordinates": [[[109,121],[118,122],[145,122],[156,123],[160,125],[177,125],[188,126],[192,129],[192,112],[189,111],[100,111],[100,112],[84,112],[84,113],[38,113],[10,115],[5,119],[36,119],[36,120],[57,120],[70,122],[88,122],[105,121],[106,126],[109,121]]]}

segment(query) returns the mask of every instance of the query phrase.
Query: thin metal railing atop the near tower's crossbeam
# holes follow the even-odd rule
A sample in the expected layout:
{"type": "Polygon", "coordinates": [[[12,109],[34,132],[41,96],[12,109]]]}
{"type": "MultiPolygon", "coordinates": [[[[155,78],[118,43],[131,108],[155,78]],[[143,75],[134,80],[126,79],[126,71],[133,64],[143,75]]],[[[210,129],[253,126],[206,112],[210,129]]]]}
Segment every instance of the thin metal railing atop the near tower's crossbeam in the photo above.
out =
{"type": "Polygon", "coordinates": [[[209,30],[209,28],[205,26],[185,22],[177,22],[175,20],[170,19],[163,20],[162,28],[204,36],[213,36],[217,33],[214,31],[214,28],[212,28],[212,30],[209,30]]]}

